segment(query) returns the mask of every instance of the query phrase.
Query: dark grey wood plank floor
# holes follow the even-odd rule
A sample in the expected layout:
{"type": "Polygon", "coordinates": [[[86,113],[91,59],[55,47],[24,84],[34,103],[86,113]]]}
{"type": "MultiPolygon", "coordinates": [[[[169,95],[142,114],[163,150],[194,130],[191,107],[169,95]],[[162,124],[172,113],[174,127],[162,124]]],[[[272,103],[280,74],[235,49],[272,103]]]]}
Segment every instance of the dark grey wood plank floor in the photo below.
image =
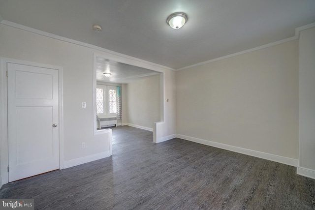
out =
{"type": "Polygon", "coordinates": [[[5,184],[0,198],[47,210],[315,210],[296,168],[182,139],[113,128],[113,156],[5,184]]]}

